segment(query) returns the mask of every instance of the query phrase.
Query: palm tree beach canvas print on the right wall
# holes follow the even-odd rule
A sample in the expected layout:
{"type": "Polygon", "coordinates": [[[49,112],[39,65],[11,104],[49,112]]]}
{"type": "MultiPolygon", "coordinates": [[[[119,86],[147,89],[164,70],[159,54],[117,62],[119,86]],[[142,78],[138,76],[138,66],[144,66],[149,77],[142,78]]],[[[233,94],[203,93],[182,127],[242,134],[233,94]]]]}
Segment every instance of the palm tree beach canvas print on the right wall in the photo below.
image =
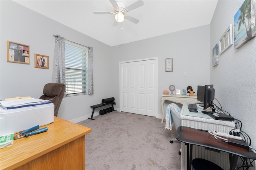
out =
{"type": "Polygon", "coordinates": [[[234,46],[242,47],[256,36],[255,0],[245,0],[234,15],[234,46]]]}

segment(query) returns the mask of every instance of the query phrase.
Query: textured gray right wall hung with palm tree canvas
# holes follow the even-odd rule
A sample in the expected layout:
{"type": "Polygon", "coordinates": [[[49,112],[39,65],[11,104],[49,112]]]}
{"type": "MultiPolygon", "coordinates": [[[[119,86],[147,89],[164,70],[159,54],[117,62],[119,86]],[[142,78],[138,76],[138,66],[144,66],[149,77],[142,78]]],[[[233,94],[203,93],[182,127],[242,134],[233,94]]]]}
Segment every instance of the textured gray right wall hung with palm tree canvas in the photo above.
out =
{"type": "MultiPolygon", "coordinates": [[[[218,42],[229,24],[234,30],[234,15],[244,1],[218,1],[211,22],[211,49],[218,42]]],[[[234,33],[233,33],[234,40],[234,33]]],[[[212,56],[212,54],[211,54],[212,56]]],[[[216,99],[222,108],[242,121],[242,130],[252,138],[256,148],[256,38],[234,49],[234,44],[219,56],[219,64],[211,69],[216,99]]]]}

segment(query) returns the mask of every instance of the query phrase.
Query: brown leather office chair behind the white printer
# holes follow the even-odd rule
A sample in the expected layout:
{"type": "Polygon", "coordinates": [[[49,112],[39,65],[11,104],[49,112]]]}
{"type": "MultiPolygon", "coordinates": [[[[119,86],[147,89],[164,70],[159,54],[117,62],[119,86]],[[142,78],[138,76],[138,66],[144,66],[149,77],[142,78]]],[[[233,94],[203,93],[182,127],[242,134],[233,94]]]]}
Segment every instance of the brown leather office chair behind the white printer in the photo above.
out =
{"type": "Polygon", "coordinates": [[[54,104],[54,116],[58,115],[65,89],[66,85],[64,83],[47,83],[44,85],[44,95],[39,99],[52,100],[52,103],[54,104]]]}

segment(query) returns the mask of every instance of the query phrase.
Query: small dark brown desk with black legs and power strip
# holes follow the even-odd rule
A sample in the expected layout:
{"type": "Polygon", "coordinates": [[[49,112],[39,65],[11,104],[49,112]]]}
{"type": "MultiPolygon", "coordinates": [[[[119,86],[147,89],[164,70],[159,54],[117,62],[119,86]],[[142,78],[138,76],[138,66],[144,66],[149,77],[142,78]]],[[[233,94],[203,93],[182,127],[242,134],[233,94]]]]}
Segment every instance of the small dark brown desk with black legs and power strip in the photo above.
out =
{"type": "Polygon", "coordinates": [[[221,150],[223,152],[228,152],[230,157],[230,170],[235,169],[238,156],[256,160],[256,153],[254,153],[251,149],[246,150],[244,148],[221,142],[216,140],[214,136],[208,132],[190,127],[178,127],[177,131],[177,140],[190,145],[190,149],[187,147],[187,170],[191,170],[193,145],[204,146],[207,148],[221,150]]]}

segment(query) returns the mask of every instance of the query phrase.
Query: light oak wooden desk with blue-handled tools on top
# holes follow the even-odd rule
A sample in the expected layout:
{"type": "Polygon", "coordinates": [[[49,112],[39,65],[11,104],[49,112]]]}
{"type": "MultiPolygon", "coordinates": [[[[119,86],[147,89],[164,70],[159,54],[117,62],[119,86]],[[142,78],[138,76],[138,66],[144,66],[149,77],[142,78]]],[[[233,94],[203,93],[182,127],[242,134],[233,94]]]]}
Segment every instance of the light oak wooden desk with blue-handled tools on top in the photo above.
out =
{"type": "Polygon", "coordinates": [[[92,130],[58,117],[42,127],[48,131],[16,139],[12,146],[0,149],[0,169],[85,170],[85,134],[92,130]]]}

